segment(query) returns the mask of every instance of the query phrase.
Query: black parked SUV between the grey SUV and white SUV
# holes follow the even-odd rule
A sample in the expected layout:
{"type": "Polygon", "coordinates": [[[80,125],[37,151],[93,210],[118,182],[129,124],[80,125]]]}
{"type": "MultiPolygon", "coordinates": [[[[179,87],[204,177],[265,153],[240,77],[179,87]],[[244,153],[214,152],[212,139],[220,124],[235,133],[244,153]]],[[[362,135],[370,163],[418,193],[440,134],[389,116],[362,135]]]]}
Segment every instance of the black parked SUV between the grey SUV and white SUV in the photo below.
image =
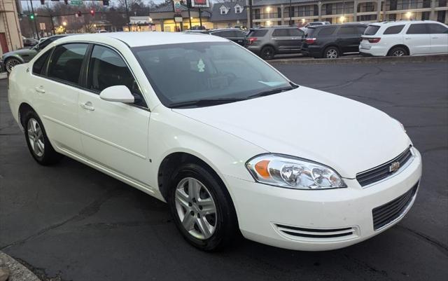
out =
{"type": "Polygon", "coordinates": [[[358,53],[361,34],[367,25],[319,25],[308,27],[302,44],[302,53],[311,57],[336,58],[346,53],[358,53]]]}

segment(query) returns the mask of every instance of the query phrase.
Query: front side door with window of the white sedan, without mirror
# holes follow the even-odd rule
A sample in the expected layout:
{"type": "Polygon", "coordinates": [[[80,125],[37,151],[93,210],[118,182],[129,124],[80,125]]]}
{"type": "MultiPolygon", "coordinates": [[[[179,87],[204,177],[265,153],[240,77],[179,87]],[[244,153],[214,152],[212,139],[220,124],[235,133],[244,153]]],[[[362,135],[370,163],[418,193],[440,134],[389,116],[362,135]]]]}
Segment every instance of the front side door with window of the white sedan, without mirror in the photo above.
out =
{"type": "Polygon", "coordinates": [[[125,60],[115,50],[94,46],[88,66],[87,89],[80,90],[79,123],[85,157],[122,176],[148,182],[150,111],[125,60]],[[125,85],[134,104],[107,102],[99,93],[125,85]]]}

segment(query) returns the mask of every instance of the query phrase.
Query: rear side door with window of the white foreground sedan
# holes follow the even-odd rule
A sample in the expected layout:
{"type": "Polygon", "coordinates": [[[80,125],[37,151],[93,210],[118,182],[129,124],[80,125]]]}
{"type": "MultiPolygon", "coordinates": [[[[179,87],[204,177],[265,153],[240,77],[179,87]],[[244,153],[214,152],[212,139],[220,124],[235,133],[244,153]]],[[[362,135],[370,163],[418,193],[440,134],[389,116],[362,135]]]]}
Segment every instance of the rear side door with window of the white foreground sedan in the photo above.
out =
{"type": "Polygon", "coordinates": [[[78,94],[87,46],[87,43],[56,46],[46,73],[38,63],[48,51],[33,64],[38,114],[48,137],[59,149],[76,154],[83,153],[78,123],[78,94]]]}

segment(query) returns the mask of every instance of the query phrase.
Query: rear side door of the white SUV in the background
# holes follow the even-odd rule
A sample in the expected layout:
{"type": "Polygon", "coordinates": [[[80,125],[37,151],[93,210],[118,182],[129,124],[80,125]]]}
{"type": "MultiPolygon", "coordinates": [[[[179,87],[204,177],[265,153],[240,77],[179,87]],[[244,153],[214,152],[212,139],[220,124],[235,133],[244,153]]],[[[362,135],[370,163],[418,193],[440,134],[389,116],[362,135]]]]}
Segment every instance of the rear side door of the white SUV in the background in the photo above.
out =
{"type": "Polygon", "coordinates": [[[412,23],[405,34],[405,44],[410,55],[424,55],[431,53],[431,35],[426,23],[412,23]]]}

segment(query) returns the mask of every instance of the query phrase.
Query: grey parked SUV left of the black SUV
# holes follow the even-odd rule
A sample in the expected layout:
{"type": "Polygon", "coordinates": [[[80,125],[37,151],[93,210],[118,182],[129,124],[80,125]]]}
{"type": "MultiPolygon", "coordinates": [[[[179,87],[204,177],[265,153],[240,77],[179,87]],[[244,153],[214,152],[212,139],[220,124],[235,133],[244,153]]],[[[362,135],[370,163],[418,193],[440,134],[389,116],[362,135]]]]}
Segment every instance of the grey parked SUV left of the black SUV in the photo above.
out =
{"type": "Polygon", "coordinates": [[[300,53],[304,32],[298,27],[262,27],[250,29],[245,46],[264,60],[277,54],[300,53]]]}

